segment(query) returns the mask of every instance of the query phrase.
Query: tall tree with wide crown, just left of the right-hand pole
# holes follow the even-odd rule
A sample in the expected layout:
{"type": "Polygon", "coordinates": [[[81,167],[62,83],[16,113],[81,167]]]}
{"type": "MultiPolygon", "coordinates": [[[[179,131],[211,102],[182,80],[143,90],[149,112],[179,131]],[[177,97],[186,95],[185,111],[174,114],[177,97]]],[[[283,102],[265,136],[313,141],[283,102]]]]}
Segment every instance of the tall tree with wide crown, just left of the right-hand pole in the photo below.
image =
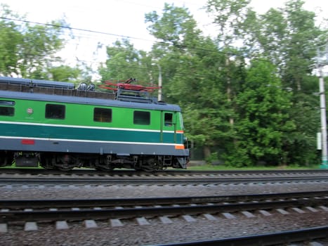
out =
{"type": "Polygon", "coordinates": [[[253,44],[258,45],[259,51],[279,68],[282,86],[292,91],[289,115],[296,129],[289,133],[285,151],[293,164],[317,162],[315,137],[320,117],[319,100],[313,96],[317,92],[317,79],[312,74],[317,50],[327,44],[328,34],[327,25],[326,29],[315,25],[315,13],[306,11],[303,4],[301,0],[287,1],[284,8],[270,9],[253,18],[257,30],[254,27],[245,30],[253,34],[253,44]]]}

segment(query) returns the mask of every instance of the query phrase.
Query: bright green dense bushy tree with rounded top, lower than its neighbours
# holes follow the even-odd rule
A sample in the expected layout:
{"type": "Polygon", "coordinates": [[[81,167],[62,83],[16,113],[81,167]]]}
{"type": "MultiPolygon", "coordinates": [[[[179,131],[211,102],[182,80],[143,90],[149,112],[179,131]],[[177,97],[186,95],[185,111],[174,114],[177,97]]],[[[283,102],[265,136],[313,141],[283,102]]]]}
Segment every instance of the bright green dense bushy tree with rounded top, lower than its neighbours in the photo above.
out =
{"type": "Polygon", "coordinates": [[[284,91],[275,67],[266,60],[251,62],[242,87],[236,98],[237,144],[227,155],[227,163],[284,164],[287,134],[295,129],[294,121],[289,119],[290,93],[284,91]]]}

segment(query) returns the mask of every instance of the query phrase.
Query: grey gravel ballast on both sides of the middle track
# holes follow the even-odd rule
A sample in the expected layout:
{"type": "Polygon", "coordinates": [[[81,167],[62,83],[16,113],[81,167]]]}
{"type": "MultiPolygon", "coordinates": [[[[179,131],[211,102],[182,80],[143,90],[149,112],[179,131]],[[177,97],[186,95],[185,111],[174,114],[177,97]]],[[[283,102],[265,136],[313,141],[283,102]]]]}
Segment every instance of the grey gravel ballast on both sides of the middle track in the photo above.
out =
{"type": "MultiPolygon", "coordinates": [[[[251,193],[280,193],[327,190],[328,183],[280,183],[219,186],[6,186],[0,187],[0,199],[41,198],[129,198],[170,197],[191,195],[237,195],[251,193]]],[[[154,245],[191,240],[235,237],[272,231],[325,226],[328,212],[306,212],[287,215],[273,212],[272,216],[255,213],[255,218],[241,214],[236,219],[219,215],[216,221],[203,216],[195,222],[172,218],[173,224],[161,224],[149,219],[150,225],[138,226],[131,221],[122,227],[111,227],[107,221],[97,221],[98,228],[86,229],[83,222],[71,224],[68,230],[55,230],[54,224],[38,224],[39,231],[23,231],[22,225],[9,225],[7,233],[0,233],[0,245],[154,245]]]]}

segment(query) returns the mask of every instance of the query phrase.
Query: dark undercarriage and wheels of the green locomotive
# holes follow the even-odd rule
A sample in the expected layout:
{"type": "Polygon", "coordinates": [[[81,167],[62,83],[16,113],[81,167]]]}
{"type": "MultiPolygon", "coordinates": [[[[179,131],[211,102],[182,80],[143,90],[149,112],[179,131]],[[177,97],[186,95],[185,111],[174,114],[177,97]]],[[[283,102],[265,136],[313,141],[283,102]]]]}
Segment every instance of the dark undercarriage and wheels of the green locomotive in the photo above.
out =
{"type": "Polygon", "coordinates": [[[127,168],[156,171],[167,167],[182,168],[178,158],[171,155],[93,155],[81,153],[0,153],[0,166],[43,167],[69,171],[75,167],[86,167],[100,171],[127,168]]]}

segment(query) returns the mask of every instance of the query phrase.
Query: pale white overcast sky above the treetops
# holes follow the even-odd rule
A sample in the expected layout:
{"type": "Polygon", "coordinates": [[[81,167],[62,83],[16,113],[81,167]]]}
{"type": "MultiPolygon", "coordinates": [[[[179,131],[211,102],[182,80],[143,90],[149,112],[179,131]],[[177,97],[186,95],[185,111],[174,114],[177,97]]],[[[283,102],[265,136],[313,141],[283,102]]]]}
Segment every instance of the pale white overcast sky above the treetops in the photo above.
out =
{"type": "MultiPolygon", "coordinates": [[[[327,0],[304,0],[304,8],[323,16],[328,16],[327,0]]],[[[105,61],[105,48],[96,52],[98,42],[111,45],[117,39],[129,37],[138,49],[149,51],[155,39],[150,36],[145,23],[145,13],[162,13],[164,3],[184,6],[194,16],[204,34],[211,34],[211,19],[202,9],[206,0],[0,0],[19,15],[26,15],[26,20],[46,23],[51,20],[65,19],[70,27],[104,32],[74,31],[75,39],[59,53],[67,65],[84,60],[93,67],[105,61]]],[[[258,13],[265,13],[270,7],[284,6],[285,0],[252,0],[251,5],[258,13]]]]}

